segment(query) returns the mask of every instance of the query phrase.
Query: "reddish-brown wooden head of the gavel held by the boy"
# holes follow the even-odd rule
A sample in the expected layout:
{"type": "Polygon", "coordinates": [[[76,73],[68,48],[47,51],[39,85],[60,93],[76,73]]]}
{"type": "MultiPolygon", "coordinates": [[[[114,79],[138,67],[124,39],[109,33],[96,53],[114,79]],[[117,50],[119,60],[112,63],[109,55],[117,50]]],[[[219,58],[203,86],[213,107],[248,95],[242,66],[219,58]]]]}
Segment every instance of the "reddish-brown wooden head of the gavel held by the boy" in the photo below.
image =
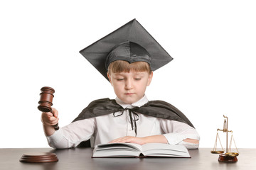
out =
{"type": "Polygon", "coordinates": [[[54,94],[54,89],[48,86],[44,86],[41,89],[41,94],[40,94],[40,101],[38,102],[38,110],[42,112],[50,112],[52,111],[51,106],[53,106],[53,94],[54,94]]]}

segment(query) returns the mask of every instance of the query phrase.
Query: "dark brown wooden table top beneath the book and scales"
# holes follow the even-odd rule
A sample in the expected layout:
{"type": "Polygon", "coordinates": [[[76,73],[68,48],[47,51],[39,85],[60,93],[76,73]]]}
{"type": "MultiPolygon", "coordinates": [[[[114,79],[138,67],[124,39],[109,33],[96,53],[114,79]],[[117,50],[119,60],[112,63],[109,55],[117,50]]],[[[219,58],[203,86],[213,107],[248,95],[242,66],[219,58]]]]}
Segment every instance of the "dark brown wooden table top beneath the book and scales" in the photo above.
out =
{"type": "Polygon", "coordinates": [[[110,169],[110,170],[165,170],[165,169],[256,169],[256,149],[238,149],[240,155],[236,163],[218,162],[218,154],[210,154],[208,148],[189,150],[191,158],[91,158],[92,148],[75,149],[0,149],[1,170],[55,170],[55,169],[110,169]],[[22,163],[22,154],[27,152],[54,152],[59,161],[51,163],[22,163]]]}

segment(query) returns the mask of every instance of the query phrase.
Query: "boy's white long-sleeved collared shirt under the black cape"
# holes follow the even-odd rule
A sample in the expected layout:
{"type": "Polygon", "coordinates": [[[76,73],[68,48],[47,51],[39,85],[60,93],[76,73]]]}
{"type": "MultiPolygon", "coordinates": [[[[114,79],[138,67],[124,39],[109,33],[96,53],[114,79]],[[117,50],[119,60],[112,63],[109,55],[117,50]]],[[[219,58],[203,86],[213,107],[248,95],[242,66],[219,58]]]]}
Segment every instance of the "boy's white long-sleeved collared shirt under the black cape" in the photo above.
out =
{"type": "MultiPolygon", "coordinates": [[[[123,108],[133,108],[143,106],[148,102],[148,99],[144,96],[130,105],[123,103],[119,98],[116,98],[116,101],[123,108]]],[[[53,148],[70,148],[76,147],[82,141],[89,140],[92,135],[94,145],[107,143],[119,137],[135,136],[130,123],[129,111],[117,112],[115,115],[102,115],[70,123],[70,125],[60,128],[53,135],[47,137],[48,143],[53,148]]],[[[171,145],[185,145],[188,149],[198,148],[198,144],[183,142],[187,138],[194,140],[200,138],[198,132],[186,123],[138,115],[139,120],[136,121],[137,137],[164,135],[171,145]]]]}

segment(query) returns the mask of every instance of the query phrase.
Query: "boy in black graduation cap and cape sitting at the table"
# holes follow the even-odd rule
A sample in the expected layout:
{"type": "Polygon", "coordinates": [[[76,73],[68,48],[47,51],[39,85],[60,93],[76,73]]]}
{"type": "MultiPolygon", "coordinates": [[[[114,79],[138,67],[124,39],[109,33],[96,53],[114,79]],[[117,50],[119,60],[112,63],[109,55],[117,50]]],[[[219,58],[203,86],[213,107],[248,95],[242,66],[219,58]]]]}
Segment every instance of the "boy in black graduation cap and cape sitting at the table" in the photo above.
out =
{"type": "Polygon", "coordinates": [[[169,103],[148,101],[145,96],[146,86],[149,86],[153,77],[152,69],[158,69],[172,59],[162,49],[156,50],[157,55],[148,52],[151,47],[159,47],[154,38],[155,44],[152,46],[148,38],[150,36],[133,20],[81,51],[107,77],[117,98],[92,101],[73,123],[57,131],[53,125],[58,123],[58,111],[53,108],[54,116],[52,113],[42,113],[43,129],[50,147],[76,147],[93,136],[94,145],[107,142],[133,142],[139,145],[158,142],[198,148],[199,135],[183,113],[169,103]],[[129,30],[129,33],[133,30],[139,40],[134,35],[122,38],[122,35],[127,34],[122,33],[122,30],[129,30]],[[113,38],[116,33],[118,36],[113,38]],[[146,38],[142,38],[144,35],[146,38]],[[112,43],[111,39],[118,41],[112,43]],[[151,47],[146,44],[142,47],[136,43],[141,39],[151,47]],[[108,40],[111,43],[97,47],[108,40]],[[107,52],[101,54],[95,51],[102,48],[106,48],[107,52]],[[164,64],[157,62],[163,51],[166,58],[161,58],[161,61],[165,61],[164,64]]]}

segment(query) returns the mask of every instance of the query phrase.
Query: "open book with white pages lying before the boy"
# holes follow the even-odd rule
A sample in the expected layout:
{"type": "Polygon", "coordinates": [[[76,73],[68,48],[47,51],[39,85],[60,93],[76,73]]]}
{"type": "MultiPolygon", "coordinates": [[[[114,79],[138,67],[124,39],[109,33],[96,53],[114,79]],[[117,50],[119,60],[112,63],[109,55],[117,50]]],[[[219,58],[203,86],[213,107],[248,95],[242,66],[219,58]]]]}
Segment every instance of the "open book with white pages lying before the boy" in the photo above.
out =
{"type": "Polygon", "coordinates": [[[168,145],[162,143],[100,144],[93,150],[92,157],[191,157],[183,145],[168,145]]]}

